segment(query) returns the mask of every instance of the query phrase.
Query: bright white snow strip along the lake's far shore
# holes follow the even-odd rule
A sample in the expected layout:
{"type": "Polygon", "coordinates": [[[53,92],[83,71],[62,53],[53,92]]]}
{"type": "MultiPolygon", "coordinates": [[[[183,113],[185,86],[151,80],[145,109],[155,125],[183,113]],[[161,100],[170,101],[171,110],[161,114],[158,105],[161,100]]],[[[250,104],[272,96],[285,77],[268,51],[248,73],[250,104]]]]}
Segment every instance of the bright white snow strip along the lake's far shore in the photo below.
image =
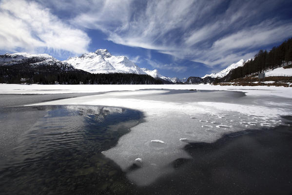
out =
{"type": "MultiPolygon", "coordinates": [[[[63,94],[113,91],[135,91],[140,89],[186,89],[227,90],[245,92],[251,96],[292,97],[289,87],[276,86],[220,86],[220,85],[21,85],[0,83],[0,94],[63,94]]],[[[147,92],[139,92],[147,93],[147,92]]],[[[157,92],[158,93],[158,92],[157,92]]],[[[192,116],[194,117],[194,116],[192,116]]]]}

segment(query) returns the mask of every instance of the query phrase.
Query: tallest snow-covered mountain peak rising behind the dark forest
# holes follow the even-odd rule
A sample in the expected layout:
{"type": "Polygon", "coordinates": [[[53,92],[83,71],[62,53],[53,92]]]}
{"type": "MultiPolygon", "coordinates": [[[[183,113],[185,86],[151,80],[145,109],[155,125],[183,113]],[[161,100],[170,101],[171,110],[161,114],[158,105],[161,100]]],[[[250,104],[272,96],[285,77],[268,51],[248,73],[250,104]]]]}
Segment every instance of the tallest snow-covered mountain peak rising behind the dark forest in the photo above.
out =
{"type": "Polygon", "coordinates": [[[134,73],[138,75],[150,75],[153,78],[161,78],[170,82],[182,82],[179,78],[165,77],[155,69],[140,68],[125,56],[113,56],[106,49],[97,49],[94,53],[86,53],[79,57],[69,58],[63,62],[71,64],[76,69],[90,73],[134,73]]]}

